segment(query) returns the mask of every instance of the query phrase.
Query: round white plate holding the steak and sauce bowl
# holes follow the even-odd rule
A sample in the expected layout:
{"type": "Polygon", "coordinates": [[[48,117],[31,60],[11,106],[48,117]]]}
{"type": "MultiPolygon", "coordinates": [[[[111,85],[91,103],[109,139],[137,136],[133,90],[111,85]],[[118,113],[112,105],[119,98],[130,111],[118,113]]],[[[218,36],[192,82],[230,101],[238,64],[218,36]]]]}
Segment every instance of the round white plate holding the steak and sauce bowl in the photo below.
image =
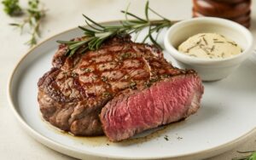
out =
{"type": "MultiPolygon", "coordinates": [[[[195,115],[146,138],[111,143],[105,137],[79,138],[61,133],[45,123],[40,115],[38,78],[51,67],[58,46],[55,41],[81,35],[82,31],[76,28],[49,38],[23,57],[10,77],[9,102],[15,116],[24,129],[44,145],[78,158],[90,155],[126,159],[196,159],[228,151],[255,132],[256,60],[251,57],[230,77],[204,83],[201,109],[195,115]]],[[[165,57],[172,59],[166,53],[165,57]]]]}

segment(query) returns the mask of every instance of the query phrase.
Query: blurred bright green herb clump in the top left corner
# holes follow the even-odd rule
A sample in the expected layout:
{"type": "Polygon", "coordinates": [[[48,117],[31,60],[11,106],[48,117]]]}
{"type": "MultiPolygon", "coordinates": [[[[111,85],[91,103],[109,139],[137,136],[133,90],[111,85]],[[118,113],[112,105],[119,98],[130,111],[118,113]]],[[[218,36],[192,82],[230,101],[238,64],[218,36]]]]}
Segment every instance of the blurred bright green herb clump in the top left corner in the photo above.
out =
{"type": "Polygon", "coordinates": [[[3,11],[9,16],[18,16],[22,14],[19,0],[3,0],[3,11]]]}

